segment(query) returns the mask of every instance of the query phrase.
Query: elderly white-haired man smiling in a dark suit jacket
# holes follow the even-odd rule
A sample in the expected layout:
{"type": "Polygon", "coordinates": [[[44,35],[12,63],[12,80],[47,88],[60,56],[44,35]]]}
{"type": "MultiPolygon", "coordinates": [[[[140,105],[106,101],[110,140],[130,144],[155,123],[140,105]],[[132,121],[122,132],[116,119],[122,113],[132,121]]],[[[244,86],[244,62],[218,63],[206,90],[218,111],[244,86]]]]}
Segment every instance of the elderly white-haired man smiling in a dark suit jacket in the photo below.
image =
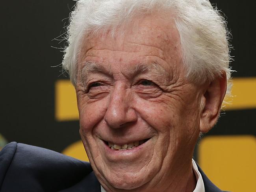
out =
{"type": "Polygon", "coordinates": [[[12,143],[3,191],[221,191],[192,160],[230,79],[225,22],[208,0],[78,0],[67,40],[90,165],[12,143]]]}

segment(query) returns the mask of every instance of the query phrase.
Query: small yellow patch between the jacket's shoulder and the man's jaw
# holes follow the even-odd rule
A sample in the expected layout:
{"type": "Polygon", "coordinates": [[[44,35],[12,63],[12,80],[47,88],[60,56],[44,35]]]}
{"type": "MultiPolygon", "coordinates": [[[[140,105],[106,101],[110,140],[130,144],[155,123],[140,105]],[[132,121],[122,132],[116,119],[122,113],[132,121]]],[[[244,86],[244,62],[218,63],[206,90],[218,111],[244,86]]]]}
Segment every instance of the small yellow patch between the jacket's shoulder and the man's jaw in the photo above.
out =
{"type": "Polygon", "coordinates": [[[74,157],[81,161],[89,162],[89,159],[88,159],[87,154],[83,147],[83,142],[81,140],[74,142],[71,145],[67,146],[67,148],[65,148],[65,150],[62,151],[62,153],[64,155],[74,157]]]}

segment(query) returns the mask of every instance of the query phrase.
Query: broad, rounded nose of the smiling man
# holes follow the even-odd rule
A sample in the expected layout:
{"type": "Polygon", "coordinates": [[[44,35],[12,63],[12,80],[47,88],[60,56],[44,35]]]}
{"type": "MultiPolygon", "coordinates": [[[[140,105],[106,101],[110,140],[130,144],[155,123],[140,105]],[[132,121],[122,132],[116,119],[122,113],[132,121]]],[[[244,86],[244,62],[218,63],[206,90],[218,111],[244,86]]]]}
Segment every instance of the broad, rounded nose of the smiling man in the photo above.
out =
{"type": "Polygon", "coordinates": [[[104,120],[111,128],[120,128],[137,121],[132,92],[124,85],[115,85],[110,93],[104,120]]]}

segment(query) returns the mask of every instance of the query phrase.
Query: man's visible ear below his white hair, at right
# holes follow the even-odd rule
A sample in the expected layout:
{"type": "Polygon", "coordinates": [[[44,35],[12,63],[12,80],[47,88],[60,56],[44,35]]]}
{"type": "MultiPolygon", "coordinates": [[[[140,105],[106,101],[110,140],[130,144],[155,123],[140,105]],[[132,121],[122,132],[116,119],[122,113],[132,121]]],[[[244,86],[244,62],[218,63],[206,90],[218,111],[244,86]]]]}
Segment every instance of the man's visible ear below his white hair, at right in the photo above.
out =
{"type": "Polygon", "coordinates": [[[226,72],[221,77],[211,81],[202,95],[202,113],[200,117],[200,132],[207,133],[216,124],[221,112],[221,104],[226,94],[227,80],[226,72]]]}

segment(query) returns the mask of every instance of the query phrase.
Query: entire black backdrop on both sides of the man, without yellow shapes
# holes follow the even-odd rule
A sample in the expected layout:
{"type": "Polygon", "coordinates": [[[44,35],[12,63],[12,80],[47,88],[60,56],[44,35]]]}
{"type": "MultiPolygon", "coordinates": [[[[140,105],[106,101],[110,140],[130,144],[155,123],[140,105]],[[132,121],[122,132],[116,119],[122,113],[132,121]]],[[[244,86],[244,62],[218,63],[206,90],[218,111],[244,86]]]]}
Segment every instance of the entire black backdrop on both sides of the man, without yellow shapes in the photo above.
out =
{"type": "MultiPolygon", "coordinates": [[[[226,14],[233,35],[234,77],[256,77],[256,3],[211,0],[226,14]]],[[[57,122],[54,83],[65,79],[63,42],[53,40],[67,25],[71,0],[2,1],[1,3],[1,126],[0,134],[17,141],[61,152],[79,140],[78,121],[57,122]],[[63,20],[64,19],[64,20],[63,20]],[[53,48],[57,47],[57,48],[53,48]],[[52,67],[56,66],[56,67],[52,67]]],[[[59,38],[61,39],[61,38],[59,38]]],[[[208,135],[256,135],[256,109],[226,111],[208,135]]]]}

